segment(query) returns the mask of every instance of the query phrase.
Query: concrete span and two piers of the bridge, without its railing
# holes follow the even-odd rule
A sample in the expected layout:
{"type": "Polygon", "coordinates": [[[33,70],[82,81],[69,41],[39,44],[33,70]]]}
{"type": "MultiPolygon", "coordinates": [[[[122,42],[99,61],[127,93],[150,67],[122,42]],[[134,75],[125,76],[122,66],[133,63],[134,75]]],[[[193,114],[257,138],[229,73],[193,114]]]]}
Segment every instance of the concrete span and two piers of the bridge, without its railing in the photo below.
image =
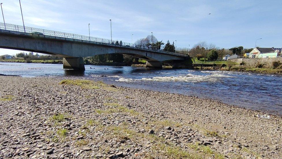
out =
{"type": "Polygon", "coordinates": [[[100,54],[127,54],[146,60],[148,67],[162,67],[162,61],[185,60],[186,57],[155,50],[140,49],[61,37],[0,30],[0,48],[38,52],[63,57],[64,68],[84,70],[82,57],[100,54]]]}

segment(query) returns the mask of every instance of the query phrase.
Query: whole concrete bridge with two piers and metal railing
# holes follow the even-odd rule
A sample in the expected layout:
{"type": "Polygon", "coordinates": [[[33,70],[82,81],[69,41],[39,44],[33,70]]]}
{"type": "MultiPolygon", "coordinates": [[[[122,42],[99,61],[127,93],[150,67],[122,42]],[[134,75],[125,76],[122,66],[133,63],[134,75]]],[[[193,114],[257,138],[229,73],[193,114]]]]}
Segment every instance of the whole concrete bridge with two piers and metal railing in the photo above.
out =
{"type": "Polygon", "coordinates": [[[4,23],[0,23],[0,48],[60,56],[63,68],[75,70],[85,70],[82,57],[99,54],[127,54],[146,60],[146,67],[155,68],[162,68],[162,61],[188,59],[187,55],[151,50],[133,43],[115,45],[108,39],[4,23]]]}

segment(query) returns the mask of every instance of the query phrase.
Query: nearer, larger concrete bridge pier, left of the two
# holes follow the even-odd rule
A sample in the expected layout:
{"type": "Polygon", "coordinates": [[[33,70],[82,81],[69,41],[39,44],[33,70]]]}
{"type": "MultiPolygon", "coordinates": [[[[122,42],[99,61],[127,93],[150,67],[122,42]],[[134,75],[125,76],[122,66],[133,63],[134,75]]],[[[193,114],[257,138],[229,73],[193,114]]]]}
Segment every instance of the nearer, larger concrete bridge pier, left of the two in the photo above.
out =
{"type": "Polygon", "coordinates": [[[73,69],[73,70],[85,70],[83,58],[82,57],[64,58],[63,68],[73,69]]]}

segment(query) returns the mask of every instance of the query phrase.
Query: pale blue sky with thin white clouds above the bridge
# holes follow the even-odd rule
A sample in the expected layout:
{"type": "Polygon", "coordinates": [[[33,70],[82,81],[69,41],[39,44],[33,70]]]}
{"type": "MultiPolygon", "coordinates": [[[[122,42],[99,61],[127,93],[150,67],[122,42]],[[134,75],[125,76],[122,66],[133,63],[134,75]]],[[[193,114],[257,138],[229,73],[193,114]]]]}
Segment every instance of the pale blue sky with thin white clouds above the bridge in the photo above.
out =
{"type": "MultiPolygon", "coordinates": [[[[6,23],[22,25],[18,0],[0,0],[6,23]]],[[[158,40],[192,47],[282,47],[282,1],[21,0],[25,26],[133,42],[153,32],[158,40]],[[209,13],[211,13],[209,15],[209,13]]],[[[0,18],[3,22],[3,18],[0,18]]],[[[0,55],[18,50],[0,49],[0,55]]]]}

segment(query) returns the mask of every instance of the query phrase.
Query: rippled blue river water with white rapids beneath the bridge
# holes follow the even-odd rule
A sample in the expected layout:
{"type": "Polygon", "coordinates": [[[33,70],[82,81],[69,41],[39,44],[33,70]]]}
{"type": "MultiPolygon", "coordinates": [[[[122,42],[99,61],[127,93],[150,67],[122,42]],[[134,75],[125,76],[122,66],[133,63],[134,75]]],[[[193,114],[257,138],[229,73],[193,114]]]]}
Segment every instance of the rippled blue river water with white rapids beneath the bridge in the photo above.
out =
{"type": "Polygon", "coordinates": [[[74,72],[63,70],[61,64],[0,62],[0,74],[23,77],[79,76],[119,86],[212,98],[282,115],[281,75],[96,65],[86,65],[85,68],[85,72],[74,72]]]}

